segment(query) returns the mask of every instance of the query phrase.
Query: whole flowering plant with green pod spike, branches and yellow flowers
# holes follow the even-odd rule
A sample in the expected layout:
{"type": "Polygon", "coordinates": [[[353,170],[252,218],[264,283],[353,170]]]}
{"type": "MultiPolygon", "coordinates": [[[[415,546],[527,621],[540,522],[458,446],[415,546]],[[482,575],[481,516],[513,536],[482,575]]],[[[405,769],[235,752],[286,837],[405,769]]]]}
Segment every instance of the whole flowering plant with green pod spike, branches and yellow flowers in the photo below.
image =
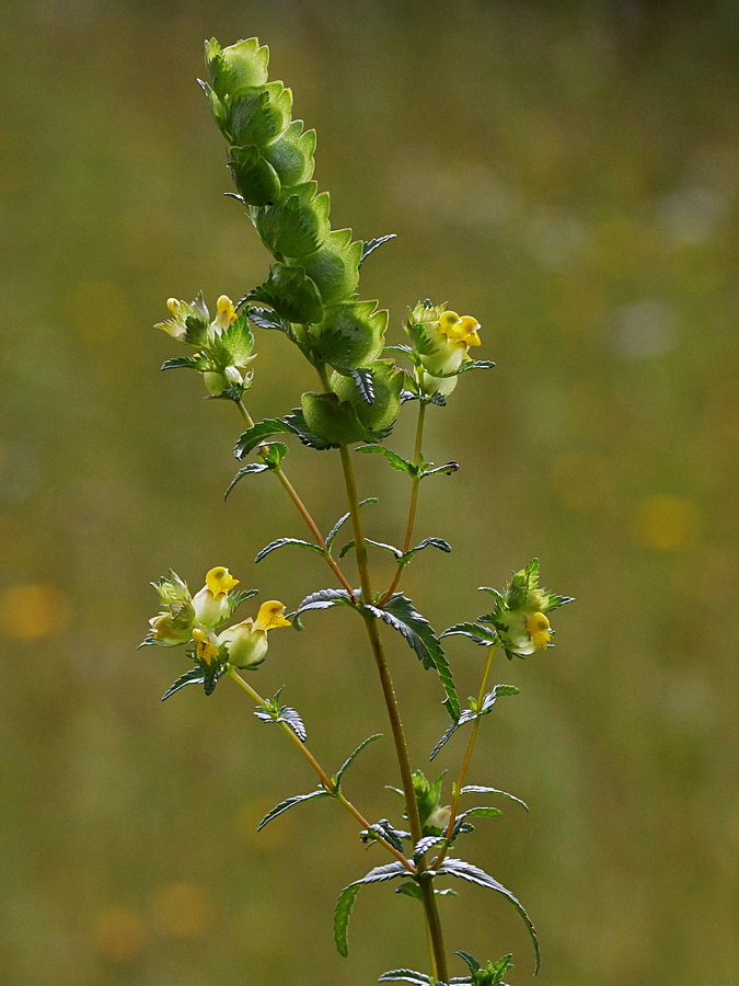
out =
{"type": "Polygon", "coordinates": [[[229,677],[256,703],[257,718],[277,723],[317,775],[315,790],[276,805],[262,819],[259,828],[305,801],[332,799],[354,817],[366,844],[376,844],[388,853],[388,862],[354,880],[339,894],[334,936],[343,955],[348,952],[347,929],[359,891],[368,884],[397,880],[397,893],[415,898],[423,913],[429,943],[428,971],[393,970],[384,973],[381,982],[496,986],[512,967],[510,955],[483,965],[459,950],[457,954],[466,964],[467,974],[450,977],[437,898],[451,888],[439,883],[443,884],[446,878],[467,881],[495,891],[512,904],[531,937],[538,970],[539,940],[518,898],[476,864],[450,853],[457,852],[460,839],[473,830],[471,819],[501,814],[489,805],[463,809],[463,799],[469,795],[504,798],[526,809],[520,799],[506,791],[486,784],[466,784],[465,780],[483,719],[493,711],[498,698],[518,692],[510,685],[488,686],[494,654],[500,651],[512,660],[549,650],[554,632],[550,615],[570,600],[540,587],[539,563],[534,560],[515,573],[503,591],[483,589],[494,597],[488,614],[476,621],[455,623],[437,634],[415,604],[400,591],[404,570],[419,551],[426,548],[451,551],[450,544],[440,537],[425,537],[413,544],[422,480],[458,469],[457,462],[434,467],[424,458],[424,425],[428,406],[443,408],[460,376],[494,366],[470,356],[469,351],[482,344],[481,326],[472,316],[459,316],[447,305],[426,300],[408,310],[404,326],[407,342],[386,345],[388,312],[378,309],[374,301],[359,300],[358,284],[361,265],[392,237],[362,242],[353,239],[351,230],[332,230],[328,194],[319,193],[312,181],[315,134],[305,130],[301,121],[291,119],[290,90],[281,82],[268,81],[266,47],[250,38],[221,48],[213,39],[206,45],[206,62],[208,81],[201,85],[229,145],[228,163],[236,187],[234,197],[273,254],[274,263],[265,282],[236,305],[221,296],[213,319],[200,296],[192,302],[171,298],[168,307],[172,317],[160,323],[160,328],[194,353],[166,360],[162,369],[197,370],[210,398],[232,401],[239,410],[246,429],[236,442],[235,456],[242,462],[249,461],[238,470],[227,495],[247,475],[273,473],[308,525],[312,540],[279,538],[259,551],[255,561],[286,547],[300,548],[325,562],[334,584],[311,593],[288,616],[284,615],[282,603],[272,600],[262,604],[256,618],[227,626],[236,608],[255,595],[256,589],[235,592],[239,581],[228,569],[217,566],[210,569],[205,585],[193,596],[186,583],[170,572],[154,583],[161,608],[150,620],[150,632],[143,643],[184,646],[190,662],[164,698],[194,684],[201,685],[205,693],[210,695],[221,678],[229,677]],[[281,417],[257,422],[245,402],[254,372],[254,330],[281,332],[314,367],[320,383],[320,389],[303,393],[298,406],[281,417]],[[405,365],[399,366],[396,357],[402,357],[405,365]],[[413,404],[417,405],[416,442],[413,456],[406,459],[385,442],[402,410],[413,404]],[[325,536],[282,468],[288,454],[288,445],[282,439],[289,437],[297,437],[332,459],[331,450],[338,452],[348,511],[325,536]],[[383,457],[389,466],[409,479],[408,519],[401,547],[365,535],[361,507],[368,501],[359,500],[353,448],[361,455],[383,457]],[[336,553],[336,539],[347,523],[350,523],[351,538],[336,553]],[[382,589],[377,588],[368,546],[393,558],[392,581],[382,589]],[[345,571],[344,559],[349,553],[354,553],[358,587],[345,571]],[[247,680],[239,673],[255,672],[266,660],[270,630],[290,626],[302,630],[304,614],[337,606],[354,610],[362,620],[379,674],[400,773],[400,787],[394,790],[403,800],[403,811],[395,821],[371,821],[371,812],[360,811],[342,788],[346,771],[379,734],[361,743],[336,773],[330,773],[307,746],[300,714],[281,703],[281,689],[273,698],[264,698],[252,686],[251,675],[247,680]],[[424,668],[438,675],[449,720],[430,758],[458,730],[472,723],[448,804],[443,803],[447,800],[443,775],[429,780],[412,767],[385,652],[388,641],[381,633],[383,624],[400,634],[401,645],[407,644],[424,668]],[[464,709],[441,643],[451,635],[466,637],[487,649],[476,697],[464,709]]]}

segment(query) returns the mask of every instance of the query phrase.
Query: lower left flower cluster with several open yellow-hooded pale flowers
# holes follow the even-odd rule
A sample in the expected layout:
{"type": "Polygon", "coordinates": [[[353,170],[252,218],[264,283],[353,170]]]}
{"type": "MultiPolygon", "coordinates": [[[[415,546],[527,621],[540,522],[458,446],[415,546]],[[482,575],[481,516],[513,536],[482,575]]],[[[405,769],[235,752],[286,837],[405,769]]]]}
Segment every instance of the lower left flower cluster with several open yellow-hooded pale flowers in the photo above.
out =
{"type": "Polygon", "coordinates": [[[190,656],[205,668],[227,663],[258,667],[267,655],[267,632],[290,623],[282,616],[285,606],[273,599],[262,604],[256,619],[249,617],[221,630],[236,606],[254,595],[232,593],[238,584],[239,580],[222,566],[208,572],[206,584],[195,596],[174,572],[152,583],[163,608],[149,620],[151,630],[143,643],[174,647],[192,642],[190,656]]]}

